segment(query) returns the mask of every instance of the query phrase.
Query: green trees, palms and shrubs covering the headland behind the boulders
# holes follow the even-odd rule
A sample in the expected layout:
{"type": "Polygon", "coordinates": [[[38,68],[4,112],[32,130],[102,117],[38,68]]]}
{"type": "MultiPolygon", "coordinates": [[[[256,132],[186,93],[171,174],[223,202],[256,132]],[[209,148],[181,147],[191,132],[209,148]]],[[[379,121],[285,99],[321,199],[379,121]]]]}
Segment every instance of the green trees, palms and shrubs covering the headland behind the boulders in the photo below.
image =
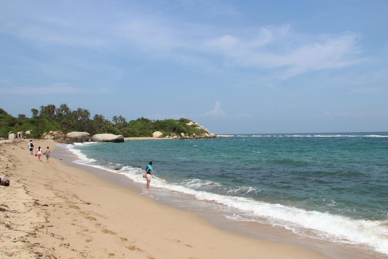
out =
{"type": "Polygon", "coordinates": [[[19,114],[17,118],[9,115],[0,108],[0,136],[8,137],[9,131],[31,130],[31,137],[39,138],[44,132],[62,131],[64,134],[71,131],[85,131],[91,135],[99,133],[112,133],[124,137],[152,137],[154,131],[160,131],[164,136],[185,134],[201,135],[205,131],[196,129],[196,125],[188,126],[189,119],[165,119],[152,121],[146,118],[127,121],[122,115],[115,115],[109,121],[102,114],[95,114],[91,118],[88,110],[78,108],[71,110],[66,103],[56,107],[53,104],[31,109],[32,117],[19,114]]]}

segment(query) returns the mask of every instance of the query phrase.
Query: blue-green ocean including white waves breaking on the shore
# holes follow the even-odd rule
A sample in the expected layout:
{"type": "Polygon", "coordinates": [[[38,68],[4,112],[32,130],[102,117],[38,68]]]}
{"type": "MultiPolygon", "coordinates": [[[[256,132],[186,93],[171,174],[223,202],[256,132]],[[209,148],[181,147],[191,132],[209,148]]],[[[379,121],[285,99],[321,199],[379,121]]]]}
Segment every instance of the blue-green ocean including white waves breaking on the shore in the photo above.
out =
{"type": "Polygon", "coordinates": [[[152,161],[151,188],[159,195],[173,191],[206,207],[223,205],[228,219],[388,255],[388,132],[232,137],[66,148],[77,156],[75,163],[144,186],[142,174],[152,161]]]}

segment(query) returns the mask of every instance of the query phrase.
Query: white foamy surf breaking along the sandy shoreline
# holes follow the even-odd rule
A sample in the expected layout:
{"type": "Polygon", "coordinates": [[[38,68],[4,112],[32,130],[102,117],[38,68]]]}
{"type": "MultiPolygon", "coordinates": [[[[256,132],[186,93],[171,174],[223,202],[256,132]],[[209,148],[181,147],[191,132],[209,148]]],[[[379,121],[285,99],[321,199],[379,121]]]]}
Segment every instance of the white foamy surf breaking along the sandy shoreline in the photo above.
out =
{"type": "MultiPolygon", "coordinates": [[[[111,163],[107,166],[98,165],[95,159],[88,159],[84,154],[82,154],[82,152],[75,149],[74,147],[71,147],[71,145],[67,146],[68,149],[80,159],[75,161],[76,163],[101,168],[112,173],[120,173],[126,175],[134,182],[144,183],[144,179],[142,178],[142,173],[144,173],[144,171],[142,171],[140,168],[123,166],[120,170],[114,170],[114,167],[118,166],[117,164],[111,163]]],[[[212,182],[206,182],[199,179],[190,179],[181,183],[180,185],[170,184],[166,182],[166,180],[155,176],[155,174],[152,181],[152,185],[155,187],[165,188],[179,193],[190,194],[197,200],[214,201],[226,205],[229,208],[234,208],[241,211],[242,216],[229,216],[229,218],[235,218],[237,220],[258,221],[276,226],[282,226],[283,228],[290,229],[291,231],[300,235],[307,235],[312,238],[330,240],[332,242],[348,242],[369,245],[378,252],[388,254],[388,228],[386,227],[387,222],[357,220],[350,217],[344,217],[342,215],[329,214],[328,212],[322,213],[314,210],[304,210],[301,208],[288,207],[281,204],[256,201],[246,197],[214,194],[205,191],[206,189],[192,189],[193,187],[200,187],[206,183],[212,182]],[[244,217],[244,215],[249,215],[249,217],[244,217]]],[[[249,188],[251,187],[241,188],[245,188],[244,191],[249,193],[249,188]]],[[[237,189],[234,190],[234,193],[237,193],[237,189]]],[[[252,188],[251,191],[255,190],[252,188]]],[[[229,194],[234,193],[231,191],[229,194]]]]}

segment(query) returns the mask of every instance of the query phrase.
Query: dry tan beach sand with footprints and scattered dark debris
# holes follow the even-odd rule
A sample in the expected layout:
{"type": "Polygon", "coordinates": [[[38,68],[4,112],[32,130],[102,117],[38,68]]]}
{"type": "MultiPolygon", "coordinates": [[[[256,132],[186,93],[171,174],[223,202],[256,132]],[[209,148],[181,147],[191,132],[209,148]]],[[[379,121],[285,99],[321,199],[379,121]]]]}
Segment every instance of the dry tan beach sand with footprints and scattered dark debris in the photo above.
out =
{"type": "MultiPolygon", "coordinates": [[[[0,142],[1,258],[325,258],[293,245],[220,230],[197,215],[156,204],[129,188],[39,162],[28,140],[0,142]],[[8,166],[7,166],[8,165],[8,166]]],[[[43,148],[44,150],[44,148],[43,148]]]]}

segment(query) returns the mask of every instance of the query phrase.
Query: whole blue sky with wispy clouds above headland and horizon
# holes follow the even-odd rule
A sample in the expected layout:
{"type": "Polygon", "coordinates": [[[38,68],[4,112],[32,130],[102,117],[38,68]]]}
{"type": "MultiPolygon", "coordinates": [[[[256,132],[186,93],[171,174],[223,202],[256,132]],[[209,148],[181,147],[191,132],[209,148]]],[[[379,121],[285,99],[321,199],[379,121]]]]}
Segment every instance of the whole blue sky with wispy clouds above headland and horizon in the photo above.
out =
{"type": "Polygon", "coordinates": [[[0,108],[388,131],[388,1],[2,1],[0,108]]]}

